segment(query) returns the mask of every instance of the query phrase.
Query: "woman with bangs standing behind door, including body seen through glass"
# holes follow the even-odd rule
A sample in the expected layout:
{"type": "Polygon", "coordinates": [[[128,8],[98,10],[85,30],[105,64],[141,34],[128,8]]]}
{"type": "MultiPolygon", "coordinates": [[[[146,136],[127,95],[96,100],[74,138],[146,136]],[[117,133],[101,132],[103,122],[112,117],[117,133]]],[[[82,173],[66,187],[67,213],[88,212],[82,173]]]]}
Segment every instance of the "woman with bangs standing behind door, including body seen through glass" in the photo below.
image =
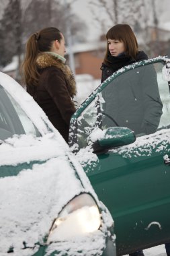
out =
{"type": "MultiPolygon", "coordinates": [[[[122,67],[148,59],[144,51],[138,51],[136,36],[127,24],[110,28],[106,39],[101,82],[122,67]]],[[[146,65],[133,70],[120,75],[103,89],[102,124],[106,128],[128,127],[137,136],[155,133],[163,108],[155,67],[146,65]]]]}

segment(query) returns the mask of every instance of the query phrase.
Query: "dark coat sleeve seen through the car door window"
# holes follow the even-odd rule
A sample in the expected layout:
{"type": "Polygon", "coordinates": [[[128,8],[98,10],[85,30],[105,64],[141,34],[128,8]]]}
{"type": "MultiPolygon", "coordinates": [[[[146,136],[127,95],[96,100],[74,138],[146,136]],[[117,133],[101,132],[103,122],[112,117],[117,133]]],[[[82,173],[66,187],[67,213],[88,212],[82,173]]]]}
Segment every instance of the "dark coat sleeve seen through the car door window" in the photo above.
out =
{"type": "Polygon", "coordinates": [[[157,84],[157,73],[153,65],[144,70],[142,76],[144,119],[142,121],[142,129],[146,134],[154,133],[159,126],[161,115],[163,114],[163,104],[159,96],[159,88],[157,84]]]}

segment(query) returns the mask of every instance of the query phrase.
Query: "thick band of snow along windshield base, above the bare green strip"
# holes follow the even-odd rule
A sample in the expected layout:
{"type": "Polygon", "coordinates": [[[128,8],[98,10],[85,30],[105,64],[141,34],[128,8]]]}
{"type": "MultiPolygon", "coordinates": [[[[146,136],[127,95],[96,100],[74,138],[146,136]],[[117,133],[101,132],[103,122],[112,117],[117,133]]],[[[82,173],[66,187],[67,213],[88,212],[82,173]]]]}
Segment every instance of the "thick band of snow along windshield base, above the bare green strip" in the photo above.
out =
{"type": "Polygon", "coordinates": [[[48,133],[43,137],[14,135],[5,141],[1,141],[0,166],[46,160],[51,157],[65,155],[65,151],[69,151],[69,147],[62,141],[60,142],[54,133],[48,133]]]}

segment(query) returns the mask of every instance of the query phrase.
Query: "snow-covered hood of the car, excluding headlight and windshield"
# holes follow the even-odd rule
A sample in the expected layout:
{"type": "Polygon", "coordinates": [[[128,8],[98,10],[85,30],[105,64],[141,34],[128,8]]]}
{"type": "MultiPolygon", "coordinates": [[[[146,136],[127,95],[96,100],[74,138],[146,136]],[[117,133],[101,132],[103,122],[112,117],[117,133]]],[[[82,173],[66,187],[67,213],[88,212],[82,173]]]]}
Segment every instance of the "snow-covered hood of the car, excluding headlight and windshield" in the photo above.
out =
{"type": "Polygon", "coordinates": [[[90,191],[86,178],[82,183],[75,175],[67,150],[52,134],[17,136],[0,145],[1,255],[9,247],[15,248],[13,255],[21,255],[23,242],[27,247],[42,244],[62,207],[90,191]]]}

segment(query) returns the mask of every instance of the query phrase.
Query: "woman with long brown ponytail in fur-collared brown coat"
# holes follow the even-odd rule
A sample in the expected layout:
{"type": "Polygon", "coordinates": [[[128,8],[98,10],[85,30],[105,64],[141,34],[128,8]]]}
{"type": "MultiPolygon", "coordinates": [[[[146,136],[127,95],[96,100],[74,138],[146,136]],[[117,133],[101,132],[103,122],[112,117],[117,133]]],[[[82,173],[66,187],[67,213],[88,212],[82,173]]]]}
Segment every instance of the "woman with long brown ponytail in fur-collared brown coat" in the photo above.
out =
{"type": "Polygon", "coordinates": [[[65,141],[75,113],[75,78],[65,65],[65,38],[57,28],[44,28],[30,36],[22,65],[27,92],[42,107],[65,141]]]}

